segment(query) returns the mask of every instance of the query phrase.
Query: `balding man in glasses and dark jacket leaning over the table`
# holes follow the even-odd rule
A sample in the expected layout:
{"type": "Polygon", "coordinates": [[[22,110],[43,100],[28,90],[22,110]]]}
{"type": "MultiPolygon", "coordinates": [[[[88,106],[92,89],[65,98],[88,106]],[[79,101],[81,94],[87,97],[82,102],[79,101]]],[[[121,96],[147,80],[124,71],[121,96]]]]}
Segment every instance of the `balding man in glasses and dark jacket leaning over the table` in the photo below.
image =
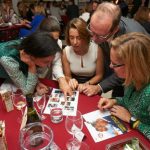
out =
{"type": "Polygon", "coordinates": [[[136,21],[121,17],[119,6],[103,2],[97,10],[93,13],[87,29],[91,33],[92,40],[95,41],[103,50],[104,55],[104,80],[98,85],[89,85],[84,90],[88,96],[95,95],[102,92],[113,90],[113,96],[122,96],[123,79],[114,74],[114,69],[120,69],[124,64],[110,64],[110,41],[115,37],[129,32],[141,32],[148,34],[145,29],[136,21]]]}

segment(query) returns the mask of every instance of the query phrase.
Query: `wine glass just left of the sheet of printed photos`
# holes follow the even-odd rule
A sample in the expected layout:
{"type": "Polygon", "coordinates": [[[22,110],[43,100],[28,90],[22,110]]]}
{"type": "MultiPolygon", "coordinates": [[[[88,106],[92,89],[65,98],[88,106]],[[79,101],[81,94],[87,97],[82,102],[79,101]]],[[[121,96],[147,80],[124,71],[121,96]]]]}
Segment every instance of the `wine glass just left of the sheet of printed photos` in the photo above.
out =
{"type": "Polygon", "coordinates": [[[46,95],[44,94],[42,96],[35,96],[34,101],[36,102],[36,105],[40,110],[41,120],[46,119],[46,116],[43,115],[43,111],[46,105],[46,95]]]}

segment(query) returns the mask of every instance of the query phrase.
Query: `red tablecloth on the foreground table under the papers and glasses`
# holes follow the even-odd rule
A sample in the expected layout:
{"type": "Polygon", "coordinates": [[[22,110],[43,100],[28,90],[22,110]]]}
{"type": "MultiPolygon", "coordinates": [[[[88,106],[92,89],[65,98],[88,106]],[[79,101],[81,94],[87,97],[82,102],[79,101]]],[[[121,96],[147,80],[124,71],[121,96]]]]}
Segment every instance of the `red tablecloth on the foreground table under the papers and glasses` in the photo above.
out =
{"type": "MultiPolygon", "coordinates": [[[[43,80],[43,83],[51,87],[58,87],[58,84],[54,81],[43,80]]],[[[83,94],[80,94],[78,110],[80,110],[82,114],[94,111],[97,109],[98,100],[99,100],[99,96],[87,97],[83,94]]],[[[17,118],[19,116],[21,116],[21,112],[16,109],[12,112],[7,113],[3,106],[2,101],[0,100],[0,120],[5,120],[5,123],[6,123],[6,139],[8,143],[8,150],[20,149],[20,146],[19,146],[20,124],[18,124],[17,122],[17,118]]],[[[54,132],[54,141],[62,150],[65,150],[66,149],[65,144],[67,140],[72,137],[65,129],[65,117],[64,117],[63,122],[59,124],[53,124],[50,121],[50,116],[47,115],[47,118],[46,120],[43,121],[43,123],[47,124],[48,126],[52,128],[54,132]]],[[[111,138],[111,139],[108,139],[99,143],[94,142],[94,140],[92,139],[85,125],[82,131],[86,135],[86,138],[84,139],[84,141],[88,143],[88,145],[90,146],[90,150],[105,150],[107,144],[110,144],[112,142],[115,142],[121,139],[126,139],[129,137],[138,137],[144,145],[150,148],[149,140],[146,139],[141,133],[135,130],[132,130],[126,134],[119,135],[115,138],[111,138]]]]}

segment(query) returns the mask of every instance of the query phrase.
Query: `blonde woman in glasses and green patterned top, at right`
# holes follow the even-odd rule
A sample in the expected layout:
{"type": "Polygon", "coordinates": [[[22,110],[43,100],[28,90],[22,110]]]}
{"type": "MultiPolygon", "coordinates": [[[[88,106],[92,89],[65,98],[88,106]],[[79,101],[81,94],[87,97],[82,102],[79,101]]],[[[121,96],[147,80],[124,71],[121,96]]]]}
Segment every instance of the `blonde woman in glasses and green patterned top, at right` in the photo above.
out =
{"type": "Polygon", "coordinates": [[[150,37],[128,33],[111,42],[111,64],[117,76],[125,78],[124,97],[101,98],[101,111],[128,122],[150,139],[150,37]]]}

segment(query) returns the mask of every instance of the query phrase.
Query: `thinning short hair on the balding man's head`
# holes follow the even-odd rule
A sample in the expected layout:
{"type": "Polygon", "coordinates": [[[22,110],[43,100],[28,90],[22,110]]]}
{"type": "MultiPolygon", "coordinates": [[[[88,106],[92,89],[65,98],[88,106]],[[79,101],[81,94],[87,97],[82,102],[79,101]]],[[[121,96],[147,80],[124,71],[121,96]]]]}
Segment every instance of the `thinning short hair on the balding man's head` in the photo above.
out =
{"type": "Polygon", "coordinates": [[[101,19],[105,15],[108,15],[112,18],[112,26],[110,31],[113,31],[119,25],[121,18],[121,10],[120,7],[116,4],[110,2],[103,2],[98,5],[94,14],[97,14],[99,19],[101,19]]]}

